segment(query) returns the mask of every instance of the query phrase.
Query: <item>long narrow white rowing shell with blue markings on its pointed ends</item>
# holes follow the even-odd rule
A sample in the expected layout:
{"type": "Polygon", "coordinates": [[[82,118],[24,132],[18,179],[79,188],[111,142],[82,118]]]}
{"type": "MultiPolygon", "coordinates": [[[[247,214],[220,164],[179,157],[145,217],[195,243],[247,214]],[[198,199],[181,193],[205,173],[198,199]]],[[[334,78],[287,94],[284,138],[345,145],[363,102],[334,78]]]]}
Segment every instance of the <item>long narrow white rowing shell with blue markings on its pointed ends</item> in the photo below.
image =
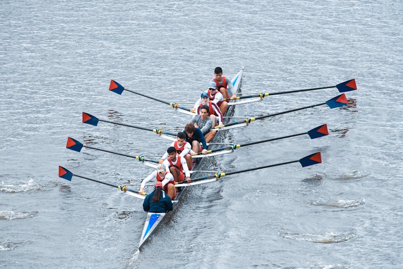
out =
{"type": "MultiPolygon", "coordinates": [[[[242,80],[242,73],[243,73],[243,68],[242,68],[241,71],[238,72],[238,74],[232,80],[232,85],[234,87],[235,92],[239,91],[239,85],[240,85],[241,80],[242,80]]],[[[229,106],[228,110],[227,110],[227,113],[225,115],[230,115],[231,113],[233,113],[234,107],[235,107],[234,105],[229,106]]],[[[218,139],[218,137],[222,137],[222,136],[217,134],[216,137],[213,139],[213,142],[216,142],[215,140],[218,139]]],[[[196,168],[198,166],[200,166],[202,163],[203,163],[203,158],[200,160],[200,162],[198,164],[195,164],[193,166],[193,170],[196,170],[196,168]]],[[[175,202],[175,203],[173,203],[174,204],[174,209],[176,208],[175,204],[177,203],[177,201],[182,196],[182,193],[184,192],[185,188],[186,187],[182,187],[181,191],[176,195],[176,197],[175,197],[175,199],[173,201],[173,202],[175,202]]],[[[173,212],[173,211],[169,211],[167,213],[150,213],[150,212],[147,212],[147,220],[146,220],[146,223],[144,224],[143,233],[142,233],[142,236],[140,238],[139,249],[142,248],[144,243],[146,243],[148,241],[150,236],[160,226],[160,224],[162,223],[162,220],[164,220],[166,218],[166,216],[169,216],[169,214],[171,212],[173,212]]]]}

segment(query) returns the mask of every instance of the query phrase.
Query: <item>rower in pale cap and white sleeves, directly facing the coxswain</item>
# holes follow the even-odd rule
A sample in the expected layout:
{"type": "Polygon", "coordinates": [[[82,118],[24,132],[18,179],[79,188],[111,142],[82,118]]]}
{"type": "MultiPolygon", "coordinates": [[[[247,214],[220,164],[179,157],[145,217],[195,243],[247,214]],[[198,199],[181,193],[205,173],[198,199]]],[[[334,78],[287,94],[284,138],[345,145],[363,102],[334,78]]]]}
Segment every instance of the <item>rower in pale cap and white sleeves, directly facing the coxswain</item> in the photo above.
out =
{"type": "Polygon", "coordinates": [[[155,179],[157,182],[160,181],[162,183],[163,190],[169,195],[171,199],[174,199],[176,197],[175,180],[173,175],[167,172],[166,165],[157,165],[157,170],[154,170],[150,175],[147,176],[147,178],[142,181],[139,193],[144,193],[144,188],[146,187],[146,184],[149,183],[152,179],[155,179]]]}

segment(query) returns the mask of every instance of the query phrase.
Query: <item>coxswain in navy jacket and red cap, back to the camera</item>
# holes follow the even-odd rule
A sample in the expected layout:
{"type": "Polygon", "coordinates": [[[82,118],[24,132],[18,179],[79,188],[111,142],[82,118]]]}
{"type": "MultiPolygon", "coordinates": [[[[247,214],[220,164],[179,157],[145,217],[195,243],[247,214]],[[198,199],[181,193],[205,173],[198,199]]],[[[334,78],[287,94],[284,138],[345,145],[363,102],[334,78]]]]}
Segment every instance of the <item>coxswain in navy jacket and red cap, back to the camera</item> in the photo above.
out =
{"type": "Polygon", "coordinates": [[[154,191],[144,199],[143,209],[152,213],[166,213],[173,209],[172,200],[162,190],[161,181],[155,183],[154,191]]]}

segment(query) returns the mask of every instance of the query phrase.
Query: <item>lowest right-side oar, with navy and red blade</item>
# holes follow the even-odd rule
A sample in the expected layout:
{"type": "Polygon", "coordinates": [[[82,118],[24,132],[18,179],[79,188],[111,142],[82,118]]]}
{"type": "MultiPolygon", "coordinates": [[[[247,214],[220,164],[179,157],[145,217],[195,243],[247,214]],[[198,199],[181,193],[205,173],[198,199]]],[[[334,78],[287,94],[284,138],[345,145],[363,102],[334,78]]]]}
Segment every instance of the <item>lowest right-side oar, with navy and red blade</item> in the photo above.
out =
{"type": "Polygon", "coordinates": [[[249,171],[254,171],[254,170],[259,170],[259,169],[264,169],[264,168],[269,168],[269,167],[275,167],[275,166],[282,166],[282,165],[288,165],[292,163],[300,163],[302,167],[307,167],[307,166],[312,166],[316,164],[320,164],[322,162],[320,152],[313,153],[311,155],[308,155],[306,157],[303,157],[298,160],[292,160],[290,162],[284,162],[280,164],[274,164],[274,165],[267,165],[267,166],[260,166],[260,167],[255,167],[255,168],[249,168],[249,169],[244,169],[244,170],[238,170],[238,171],[233,171],[233,172],[227,172],[227,173],[216,173],[215,175],[212,176],[207,176],[207,177],[199,177],[192,179],[190,183],[179,183],[175,185],[176,187],[183,187],[183,186],[193,186],[193,185],[199,185],[199,184],[205,184],[205,183],[210,183],[217,181],[219,178],[229,176],[229,175],[234,175],[234,174],[239,174],[239,173],[244,173],[244,172],[249,172],[249,171]]]}

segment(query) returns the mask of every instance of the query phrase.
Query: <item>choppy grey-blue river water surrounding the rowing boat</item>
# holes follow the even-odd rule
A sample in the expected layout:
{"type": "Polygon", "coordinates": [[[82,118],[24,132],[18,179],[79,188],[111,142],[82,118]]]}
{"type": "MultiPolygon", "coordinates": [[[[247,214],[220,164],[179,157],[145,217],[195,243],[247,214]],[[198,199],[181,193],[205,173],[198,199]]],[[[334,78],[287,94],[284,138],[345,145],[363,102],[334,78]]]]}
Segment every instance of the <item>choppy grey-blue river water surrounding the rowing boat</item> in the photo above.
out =
{"type": "MultiPolygon", "coordinates": [[[[398,1],[0,2],[0,267],[399,268],[403,205],[398,1]],[[57,177],[57,166],[116,185],[150,169],[129,158],[64,148],[71,136],[129,154],[169,142],[99,118],[181,127],[167,105],[108,92],[109,80],[169,101],[194,101],[216,66],[242,91],[331,86],[355,78],[343,109],[316,107],[227,133],[237,149],[206,169],[297,164],[196,186],[144,251],[141,202],[101,184],[57,177]]],[[[323,102],[335,89],[237,106],[262,115],[323,102]]]]}

